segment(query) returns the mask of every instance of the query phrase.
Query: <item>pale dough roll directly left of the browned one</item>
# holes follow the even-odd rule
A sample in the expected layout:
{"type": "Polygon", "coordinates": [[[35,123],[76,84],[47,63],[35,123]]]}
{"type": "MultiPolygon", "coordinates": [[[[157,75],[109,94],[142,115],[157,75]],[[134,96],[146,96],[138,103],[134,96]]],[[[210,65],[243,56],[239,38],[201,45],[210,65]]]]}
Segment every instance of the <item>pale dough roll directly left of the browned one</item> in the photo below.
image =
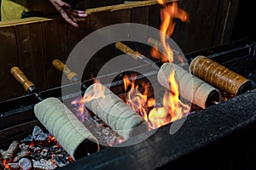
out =
{"type": "Polygon", "coordinates": [[[182,67],[172,63],[164,63],[158,72],[157,79],[163,87],[170,87],[168,77],[170,77],[172,71],[175,71],[175,80],[179,87],[179,93],[184,99],[203,109],[213,105],[214,102],[221,101],[221,94],[218,89],[213,88],[207,82],[190,74],[189,71],[185,71],[182,67]]]}

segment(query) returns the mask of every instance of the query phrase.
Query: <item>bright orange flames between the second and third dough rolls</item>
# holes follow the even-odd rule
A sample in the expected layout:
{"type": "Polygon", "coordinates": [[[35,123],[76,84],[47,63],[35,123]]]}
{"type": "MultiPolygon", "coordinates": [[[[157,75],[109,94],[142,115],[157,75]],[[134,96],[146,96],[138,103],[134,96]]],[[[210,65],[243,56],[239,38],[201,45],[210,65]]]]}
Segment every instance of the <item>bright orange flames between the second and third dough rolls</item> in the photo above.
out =
{"type": "Polygon", "coordinates": [[[166,89],[161,106],[155,106],[155,100],[148,98],[149,83],[142,84],[144,89],[142,94],[135,83],[136,77],[131,79],[126,75],[123,78],[125,92],[127,93],[125,98],[126,104],[131,105],[131,108],[136,111],[137,114],[143,116],[151,129],[174,122],[182,118],[190,110],[189,105],[184,105],[179,100],[179,91],[175,81],[174,71],[172,71],[169,79],[170,82],[172,82],[170,90],[166,89]],[[152,108],[153,106],[154,108],[152,108]]]}

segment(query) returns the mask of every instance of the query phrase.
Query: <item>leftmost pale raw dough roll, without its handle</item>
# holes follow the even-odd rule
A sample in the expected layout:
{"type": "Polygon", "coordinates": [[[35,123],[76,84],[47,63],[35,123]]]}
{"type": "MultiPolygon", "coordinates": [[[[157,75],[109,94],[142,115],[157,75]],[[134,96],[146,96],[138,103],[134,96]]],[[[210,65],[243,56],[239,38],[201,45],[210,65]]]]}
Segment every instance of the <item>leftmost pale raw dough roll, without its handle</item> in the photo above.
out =
{"type": "Polygon", "coordinates": [[[85,139],[99,144],[89,129],[63,105],[60,99],[50,97],[39,102],[34,107],[35,115],[44,127],[54,135],[57,142],[74,158],[74,152],[85,139]]]}

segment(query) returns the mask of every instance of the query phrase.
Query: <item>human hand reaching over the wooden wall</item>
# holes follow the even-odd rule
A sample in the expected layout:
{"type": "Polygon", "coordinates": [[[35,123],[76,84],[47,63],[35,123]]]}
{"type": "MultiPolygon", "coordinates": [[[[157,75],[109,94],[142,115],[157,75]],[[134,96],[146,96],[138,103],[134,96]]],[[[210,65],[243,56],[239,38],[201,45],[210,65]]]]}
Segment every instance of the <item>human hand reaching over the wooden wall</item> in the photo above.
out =
{"type": "Polygon", "coordinates": [[[64,3],[62,0],[49,0],[55,8],[60,12],[62,18],[67,21],[68,24],[79,27],[79,22],[84,22],[87,14],[82,10],[75,10],[70,7],[69,4],[64,3]]]}

